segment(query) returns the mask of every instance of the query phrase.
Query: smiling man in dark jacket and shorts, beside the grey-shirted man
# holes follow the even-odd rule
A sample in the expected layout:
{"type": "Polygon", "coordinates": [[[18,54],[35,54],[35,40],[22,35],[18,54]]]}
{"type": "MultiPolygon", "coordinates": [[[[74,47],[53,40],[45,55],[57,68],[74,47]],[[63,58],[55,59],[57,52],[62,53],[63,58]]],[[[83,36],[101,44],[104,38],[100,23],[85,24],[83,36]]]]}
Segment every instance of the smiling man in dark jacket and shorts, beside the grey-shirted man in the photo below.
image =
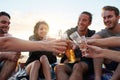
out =
{"type": "MultiPolygon", "coordinates": [[[[89,12],[82,12],[78,19],[78,24],[75,28],[67,30],[68,37],[77,31],[80,36],[91,37],[95,31],[89,30],[92,22],[92,15],[89,12]]],[[[83,75],[87,72],[93,72],[93,61],[90,58],[81,57],[80,49],[75,50],[76,57],[80,61],[74,63],[63,63],[56,66],[57,80],[83,80],[83,75]]],[[[67,58],[66,58],[67,59],[67,58]]]]}

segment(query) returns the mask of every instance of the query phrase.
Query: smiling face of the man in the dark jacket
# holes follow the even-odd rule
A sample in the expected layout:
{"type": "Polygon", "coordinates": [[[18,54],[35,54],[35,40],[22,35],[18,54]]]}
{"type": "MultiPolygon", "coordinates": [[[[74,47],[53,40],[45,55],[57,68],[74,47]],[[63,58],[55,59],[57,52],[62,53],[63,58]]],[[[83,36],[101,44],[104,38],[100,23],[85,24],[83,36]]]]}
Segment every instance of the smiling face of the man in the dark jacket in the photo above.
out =
{"type": "Polygon", "coordinates": [[[86,31],[91,24],[90,17],[87,14],[81,14],[78,20],[78,31],[86,31]]]}

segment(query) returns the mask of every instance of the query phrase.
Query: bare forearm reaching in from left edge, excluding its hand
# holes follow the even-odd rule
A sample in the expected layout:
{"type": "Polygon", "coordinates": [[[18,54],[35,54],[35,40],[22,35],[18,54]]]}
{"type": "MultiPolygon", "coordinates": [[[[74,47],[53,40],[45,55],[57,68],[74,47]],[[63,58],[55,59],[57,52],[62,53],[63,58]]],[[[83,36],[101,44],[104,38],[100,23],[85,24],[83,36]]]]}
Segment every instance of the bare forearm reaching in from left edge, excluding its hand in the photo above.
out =
{"type": "Polygon", "coordinates": [[[44,43],[21,40],[13,37],[3,38],[0,44],[1,51],[34,51],[43,50],[44,43]]]}

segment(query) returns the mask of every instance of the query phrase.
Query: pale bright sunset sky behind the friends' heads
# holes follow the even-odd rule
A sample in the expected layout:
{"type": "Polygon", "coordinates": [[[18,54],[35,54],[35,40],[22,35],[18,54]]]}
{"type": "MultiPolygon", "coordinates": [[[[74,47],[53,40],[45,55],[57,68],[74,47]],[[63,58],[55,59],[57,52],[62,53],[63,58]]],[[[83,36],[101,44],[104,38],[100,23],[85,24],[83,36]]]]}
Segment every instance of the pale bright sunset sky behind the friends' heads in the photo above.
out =
{"type": "Polygon", "coordinates": [[[15,37],[28,39],[39,20],[46,21],[50,26],[49,34],[54,35],[60,29],[64,32],[75,27],[82,11],[93,14],[90,29],[99,31],[104,28],[101,8],[106,5],[120,9],[120,0],[1,0],[0,10],[12,17],[9,32],[15,37]]]}

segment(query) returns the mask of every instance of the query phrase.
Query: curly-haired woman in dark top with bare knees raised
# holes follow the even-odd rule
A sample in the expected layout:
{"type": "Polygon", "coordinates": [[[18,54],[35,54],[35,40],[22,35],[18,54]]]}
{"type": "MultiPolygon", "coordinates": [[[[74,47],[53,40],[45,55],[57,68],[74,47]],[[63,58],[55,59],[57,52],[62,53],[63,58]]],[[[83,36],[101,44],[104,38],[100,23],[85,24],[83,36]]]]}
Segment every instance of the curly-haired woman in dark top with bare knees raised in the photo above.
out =
{"type": "MultiPolygon", "coordinates": [[[[34,34],[30,36],[29,40],[32,41],[44,40],[48,31],[49,31],[48,24],[45,21],[39,21],[36,23],[34,27],[34,34]]],[[[33,77],[36,76],[34,77],[34,80],[37,80],[39,76],[40,78],[45,78],[45,80],[51,80],[50,64],[55,63],[56,60],[57,60],[56,56],[53,55],[53,52],[48,51],[30,52],[29,58],[26,62],[26,71],[30,76],[30,79],[32,80],[33,77]]]]}

